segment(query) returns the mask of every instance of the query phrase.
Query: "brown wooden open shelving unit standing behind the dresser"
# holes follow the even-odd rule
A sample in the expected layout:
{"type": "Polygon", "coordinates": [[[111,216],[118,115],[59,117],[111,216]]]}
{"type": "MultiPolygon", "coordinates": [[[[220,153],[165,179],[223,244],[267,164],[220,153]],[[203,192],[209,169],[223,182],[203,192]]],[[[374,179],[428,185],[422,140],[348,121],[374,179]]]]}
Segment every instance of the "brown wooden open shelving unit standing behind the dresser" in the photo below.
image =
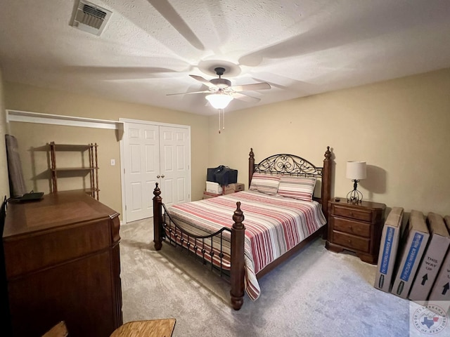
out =
{"type": "Polygon", "coordinates": [[[88,145],[78,144],[56,144],[50,143],[51,153],[51,183],[52,191],[58,192],[58,173],[73,173],[74,175],[89,175],[89,187],[83,187],[80,190],[84,190],[87,194],[90,194],[94,199],[99,199],[98,192],[98,156],[97,156],[97,143],[88,145]],[[87,166],[79,167],[59,167],[56,165],[56,153],[57,152],[87,152],[88,162],[87,166]]]}

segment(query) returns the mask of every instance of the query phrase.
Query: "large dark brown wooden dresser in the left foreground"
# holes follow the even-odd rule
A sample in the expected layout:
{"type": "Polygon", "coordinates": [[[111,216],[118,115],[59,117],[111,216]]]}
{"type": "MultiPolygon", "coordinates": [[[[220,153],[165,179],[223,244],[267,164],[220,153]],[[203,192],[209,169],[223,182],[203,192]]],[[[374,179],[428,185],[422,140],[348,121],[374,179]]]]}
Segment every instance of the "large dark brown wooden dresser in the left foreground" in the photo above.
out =
{"type": "Polygon", "coordinates": [[[122,324],[118,216],[83,192],[8,204],[2,267],[13,336],[65,321],[71,337],[103,337],[122,324]]]}

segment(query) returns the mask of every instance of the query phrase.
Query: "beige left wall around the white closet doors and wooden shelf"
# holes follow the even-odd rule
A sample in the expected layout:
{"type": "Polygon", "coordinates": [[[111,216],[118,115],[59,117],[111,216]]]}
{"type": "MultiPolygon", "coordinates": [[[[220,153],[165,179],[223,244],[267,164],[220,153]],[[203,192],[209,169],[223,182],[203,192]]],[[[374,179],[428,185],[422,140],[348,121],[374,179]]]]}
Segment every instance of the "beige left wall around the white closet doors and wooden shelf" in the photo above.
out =
{"type": "MultiPolygon", "coordinates": [[[[191,126],[192,199],[201,199],[203,196],[207,168],[205,153],[208,147],[208,119],[205,116],[11,82],[5,84],[5,108],[96,119],[129,118],[191,126]]],[[[48,143],[98,143],[100,200],[121,212],[120,142],[117,141],[115,131],[23,122],[10,124],[11,134],[18,138],[25,182],[30,190],[50,190],[48,143]],[[110,166],[110,159],[116,160],[116,166],[110,166]]]]}

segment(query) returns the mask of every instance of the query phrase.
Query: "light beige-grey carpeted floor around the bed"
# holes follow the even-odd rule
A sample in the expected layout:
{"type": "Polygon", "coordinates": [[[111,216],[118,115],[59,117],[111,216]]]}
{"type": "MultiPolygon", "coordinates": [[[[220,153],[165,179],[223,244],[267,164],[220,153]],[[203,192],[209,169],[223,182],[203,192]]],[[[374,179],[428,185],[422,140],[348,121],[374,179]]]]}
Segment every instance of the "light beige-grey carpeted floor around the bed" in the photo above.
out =
{"type": "Polygon", "coordinates": [[[375,265],[327,251],[322,239],[235,311],[223,279],[166,244],[154,250],[151,219],[120,235],[124,322],[173,317],[173,336],[410,336],[409,301],[373,288],[375,265]]]}

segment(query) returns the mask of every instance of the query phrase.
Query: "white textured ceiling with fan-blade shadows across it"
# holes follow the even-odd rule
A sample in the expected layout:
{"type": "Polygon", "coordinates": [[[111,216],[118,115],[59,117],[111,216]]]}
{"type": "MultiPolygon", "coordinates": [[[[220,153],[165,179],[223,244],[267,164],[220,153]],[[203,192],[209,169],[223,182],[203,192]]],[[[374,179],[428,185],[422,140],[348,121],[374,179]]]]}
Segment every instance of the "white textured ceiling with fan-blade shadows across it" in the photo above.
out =
{"type": "Polygon", "coordinates": [[[1,0],[6,81],[214,114],[189,74],[259,103],[450,67],[449,0],[91,0],[113,12],[101,36],[70,26],[77,0],[1,0]],[[229,74],[229,76],[227,76],[229,74]]]}

